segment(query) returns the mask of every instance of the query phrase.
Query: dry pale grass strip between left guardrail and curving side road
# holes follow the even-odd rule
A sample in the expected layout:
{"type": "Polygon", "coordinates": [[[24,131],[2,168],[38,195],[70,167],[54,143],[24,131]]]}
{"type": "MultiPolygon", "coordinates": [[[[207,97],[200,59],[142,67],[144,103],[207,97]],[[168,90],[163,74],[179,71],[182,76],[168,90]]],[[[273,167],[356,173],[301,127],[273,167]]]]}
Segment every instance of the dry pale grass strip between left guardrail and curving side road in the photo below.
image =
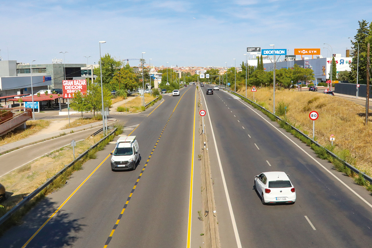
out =
{"type": "MultiPolygon", "coordinates": [[[[89,137],[76,143],[75,157],[87,150],[91,145],[98,142],[100,136],[89,137]]],[[[73,161],[72,147],[62,147],[52,153],[38,158],[37,160],[18,168],[9,174],[1,177],[1,184],[11,196],[3,205],[7,207],[22,199],[22,196],[29,194],[60,171],[64,165],[73,161]]]]}

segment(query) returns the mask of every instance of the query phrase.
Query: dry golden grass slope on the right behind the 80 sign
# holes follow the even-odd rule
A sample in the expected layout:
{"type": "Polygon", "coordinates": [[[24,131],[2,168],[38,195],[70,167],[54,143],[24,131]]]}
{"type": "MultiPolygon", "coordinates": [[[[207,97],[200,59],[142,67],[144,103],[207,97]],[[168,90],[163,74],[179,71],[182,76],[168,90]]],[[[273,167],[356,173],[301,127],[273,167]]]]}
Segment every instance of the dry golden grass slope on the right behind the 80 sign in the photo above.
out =
{"type": "MultiPolygon", "coordinates": [[[[245,87],[239,94],[245,95],[245,87]]],[[[253,99],[250,88],[247,97],[253,99]]],[[[264,103],[272,112],[272,88],[257,88],[254,94],[257,103],[264,103]]],[[[288,104],[287,119],[296,127],[305,130],[312,137],[310,111],[317,111],[319,118],[315,121],[315,136],[318,142],[330,145],[329,136],[334,134],[336,151],[349,150],[349,161],[372,175],[372,123],[365,126],[365,107],[343,98],[309,91],[275,90],[275,103],[283,101],[288,104]]],[[[372,118],[369,117],[369,122],[372,118]]]]}

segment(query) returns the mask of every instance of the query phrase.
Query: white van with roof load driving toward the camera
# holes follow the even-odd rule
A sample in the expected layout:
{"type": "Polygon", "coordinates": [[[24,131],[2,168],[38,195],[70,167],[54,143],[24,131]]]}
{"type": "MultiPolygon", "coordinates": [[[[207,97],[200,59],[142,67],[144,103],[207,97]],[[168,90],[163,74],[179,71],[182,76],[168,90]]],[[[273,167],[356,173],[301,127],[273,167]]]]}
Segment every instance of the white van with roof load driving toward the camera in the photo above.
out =
{"type": "Polygon", "coordinates": [[[114,152],[111,153],[111,170],[135,170],[140,154],[135,136],[122,136],[118,139],[114,152]]]}

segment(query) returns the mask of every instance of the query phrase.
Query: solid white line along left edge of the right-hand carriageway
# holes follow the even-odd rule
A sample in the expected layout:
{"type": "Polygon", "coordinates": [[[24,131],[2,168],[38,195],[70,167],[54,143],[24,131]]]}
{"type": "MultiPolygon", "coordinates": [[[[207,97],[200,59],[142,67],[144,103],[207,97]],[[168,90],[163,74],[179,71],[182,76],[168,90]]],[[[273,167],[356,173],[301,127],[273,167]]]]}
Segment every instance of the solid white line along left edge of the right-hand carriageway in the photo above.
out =
{"type": "MultiPolygon", "coordinates": [[[[207,113],[209,113],[209,111],[208,111],[208,106],[207,106],[207,102],[205,101],[204,94],[201,94],[201,95],[203,96],[203,99],[204,99],[205,109],[207,110],[207,113]]],[[[229,191],[227,190],[227,185],[226,185],[226,180],[225,180],[224,171],[223,171],[223,169],[222,169],[222,164],[221,164],[220,154],[219,154],[219,152],[218,152],[218,147],[217,147],[216,137],[214,136],[213,126],[212,126],[212,122],[211,122],[211,120],[210,120],[210,113],[208,114],[208,119],[209,119],[210,128],[211,128],[211,130],[212,130],[212,137],[213,137],[214,147],[215,147],[215,149],[216,149],[216,153],[217,153],[218,165],[219,165],[219,167],[220,167],[220,172],[221,172],[222,182],[223,182],[224,189],[225,189],[227,205],[229,206],[229,212],[230,212],[231,222],[232,222],[232,224],[233,224],[233,229],[234,229],[235,239],[236,239],[236,241],[237,241],[237,246],[238,246],[238,248],[242,248],[242,243],[240,242],[240,237],[239,237],[239,232],[238,232],[237,223],[236,223],[236,221],[235,221],[235,217],[234,217],[233,207],[232,207],[232,205],[231,205],[231,200],[230,200],[230,196],[229,196],[229,191]]]]}

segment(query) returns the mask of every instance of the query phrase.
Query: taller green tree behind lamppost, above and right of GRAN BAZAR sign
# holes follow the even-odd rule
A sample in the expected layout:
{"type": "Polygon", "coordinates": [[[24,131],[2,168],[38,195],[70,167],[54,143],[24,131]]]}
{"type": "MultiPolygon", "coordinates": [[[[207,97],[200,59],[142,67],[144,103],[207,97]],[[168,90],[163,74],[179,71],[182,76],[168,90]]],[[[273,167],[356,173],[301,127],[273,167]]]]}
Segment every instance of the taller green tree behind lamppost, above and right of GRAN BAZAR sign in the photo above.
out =
{"type": "MultiPolygon", "coordinates": [[[[120,70],[122,67],[123,62],[115,60],[111,55],[106,54],[102,57],[102,82],[103,85],[108,85],[115,73],[120,70]]],[[[93,73],[97,75],[94,82],[101,82],[101,69],[100,66],[94,68],[93,73]]]]}

